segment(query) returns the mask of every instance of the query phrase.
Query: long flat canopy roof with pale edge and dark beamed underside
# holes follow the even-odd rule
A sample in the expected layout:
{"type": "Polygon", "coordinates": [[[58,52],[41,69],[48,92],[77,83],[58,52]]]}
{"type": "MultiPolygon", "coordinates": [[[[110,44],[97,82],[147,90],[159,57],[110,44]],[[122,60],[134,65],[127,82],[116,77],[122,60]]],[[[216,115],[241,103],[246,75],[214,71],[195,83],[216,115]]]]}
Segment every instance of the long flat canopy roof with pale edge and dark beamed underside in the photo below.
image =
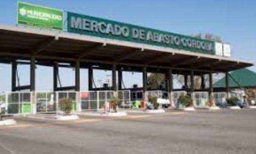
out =
{"type": "MultiPolygon", "coordinates": [[[[141,43],[99,38],[31,27],[0,25],[0,62],[29,60],[38,64],[55,62],[113,64],[173,68],[176,70],[231,71],[252,66],[245,60],[157,47],[141,43]]],[[[84,64],[84,65],[83,65],[84,64]]]]}

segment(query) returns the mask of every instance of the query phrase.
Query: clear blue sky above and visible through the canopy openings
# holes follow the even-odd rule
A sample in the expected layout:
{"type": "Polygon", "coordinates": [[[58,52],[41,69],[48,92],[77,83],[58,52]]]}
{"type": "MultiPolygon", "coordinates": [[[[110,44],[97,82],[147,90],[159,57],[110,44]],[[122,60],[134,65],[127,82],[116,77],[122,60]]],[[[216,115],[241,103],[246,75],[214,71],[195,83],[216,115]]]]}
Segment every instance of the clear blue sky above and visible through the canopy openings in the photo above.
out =
{"type": "MultiPolygon", "coordinates": [[[[232,57],[256,62],[255,0],[24,0],[65,11],[102,17],[178,34],[211,33],[232,46],[232,57]]],[[[3,0],[0,24],[16,24],[17,0],[3,0]]],[[[20,84],[29,84],[29,67],[19,66],[20,84]]],[[[256,67],[250,67],[256,71],[256,67]]],[[[0,91],[11,90],[11,65],[0,64],[0,91]]],[[[110,71],[94,71],[99,86],[111,81],[110,71]]],[[[141,85],[141,73],[124,73],[125,87],[141,85]]],[[[61,83],[73,85],[73,69],[60,70],[61,83]]],[[[87,90],[87,70],[81,70],[81,90],[87,90]]],[[[36,90],[52,90],[52,68],[38,66],[36,90]]]]}

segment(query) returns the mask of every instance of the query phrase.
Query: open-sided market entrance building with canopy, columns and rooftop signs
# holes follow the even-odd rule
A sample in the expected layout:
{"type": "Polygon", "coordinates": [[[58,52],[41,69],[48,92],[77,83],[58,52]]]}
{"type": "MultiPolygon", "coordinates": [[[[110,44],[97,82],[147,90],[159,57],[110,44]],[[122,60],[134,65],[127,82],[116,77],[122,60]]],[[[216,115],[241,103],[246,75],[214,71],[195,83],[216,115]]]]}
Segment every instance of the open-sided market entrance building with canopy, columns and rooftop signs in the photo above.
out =
{"type": "MultiPolygon", "coordinates": [[[[193,98],[195,95],[212,96],[212,73],[226,74],[222,92],[228,96],[228,72],[253,65],[250,61],[231,58],[229,44],[28,3],[18,2],[17,5],[17,25],[0,25],[0,62],[12,65],[13,93],[7,93],[5,99],[10,104],[20,104],[23,93],[15,92],[30,91],[24,92],[28,97],[23,104],[31,104],[27,106],[32,113],[55,111],[54,104],[60,97],[73,97],[77,111],[101,109],[109,99],[108,95],[122,95],[120,97],[124,99],[125,92],[128,92],[128,101],[134,97],[145,102],[150,95],[147,73],[165,74],[166,87],[157,92],[165,92],[172,106],[175,106],[175,98],[182,92],[193,98]],[[17,86],[18,64],[30,65],[29,85],[17,86]],[[36,65],[52,67],[53,71],[54,91],[40,94],[43,98],[39,98],[35,87],[36,65]],[[59,67],[75,69],[75,85],[58,86],[59,67]],[[88,92],[80,91],[81,68],[88,69],[88,92]],[[95,87],[94,69],[111,70],[112,84],[95,87]],[[142,72],[143,87],[124,89],[123,71],[142,72]],[[173,88],[173,74],[184,76],[183,88],[173,88]],[[194,87],[195,76],[201,77],[200,89],[194,87]],[[209,87],[204,84],[205,76],[209,76],[209,87]],[[188,80],[190,86],[187,85],[188,80]],[[18,100],[14,101],[13,97],[18,100]]],[[[200,104],[199,100],[198,106],[201,105],[205,104],[200,104]]],[[[17,111],[9,111],[21,112],[23,109],[20,105],[17,108],[17,111]]]]}

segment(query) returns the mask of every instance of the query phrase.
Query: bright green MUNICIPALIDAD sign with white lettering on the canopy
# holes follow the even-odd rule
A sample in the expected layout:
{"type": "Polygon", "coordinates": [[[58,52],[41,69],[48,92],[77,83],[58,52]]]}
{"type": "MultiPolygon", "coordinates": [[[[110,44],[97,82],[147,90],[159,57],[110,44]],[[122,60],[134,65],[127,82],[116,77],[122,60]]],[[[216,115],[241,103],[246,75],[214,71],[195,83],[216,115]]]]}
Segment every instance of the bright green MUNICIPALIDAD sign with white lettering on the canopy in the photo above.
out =
{"type": "Polygon", "coordinates": [[[63,11],[55,8],[18,2],[17,23],[62,30],[63,11]]]}

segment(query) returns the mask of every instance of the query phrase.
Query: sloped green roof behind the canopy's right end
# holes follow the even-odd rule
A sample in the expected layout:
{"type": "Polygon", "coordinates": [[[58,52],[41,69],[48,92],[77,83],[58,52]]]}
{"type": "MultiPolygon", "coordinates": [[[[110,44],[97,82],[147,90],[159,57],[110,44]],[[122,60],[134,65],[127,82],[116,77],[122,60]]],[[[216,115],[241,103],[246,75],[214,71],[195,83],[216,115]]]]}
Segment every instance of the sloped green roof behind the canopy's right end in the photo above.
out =
{"type": "MultiPolygon", "coordinates": [[[[256,73],[246,68],[233,71],[230,73],[230,76],[228,76],[228,79],[229,87],[256,87],[256,73]]],[[[213,87],[226,87],[225,77],[215,82],[213,87]]]]}

